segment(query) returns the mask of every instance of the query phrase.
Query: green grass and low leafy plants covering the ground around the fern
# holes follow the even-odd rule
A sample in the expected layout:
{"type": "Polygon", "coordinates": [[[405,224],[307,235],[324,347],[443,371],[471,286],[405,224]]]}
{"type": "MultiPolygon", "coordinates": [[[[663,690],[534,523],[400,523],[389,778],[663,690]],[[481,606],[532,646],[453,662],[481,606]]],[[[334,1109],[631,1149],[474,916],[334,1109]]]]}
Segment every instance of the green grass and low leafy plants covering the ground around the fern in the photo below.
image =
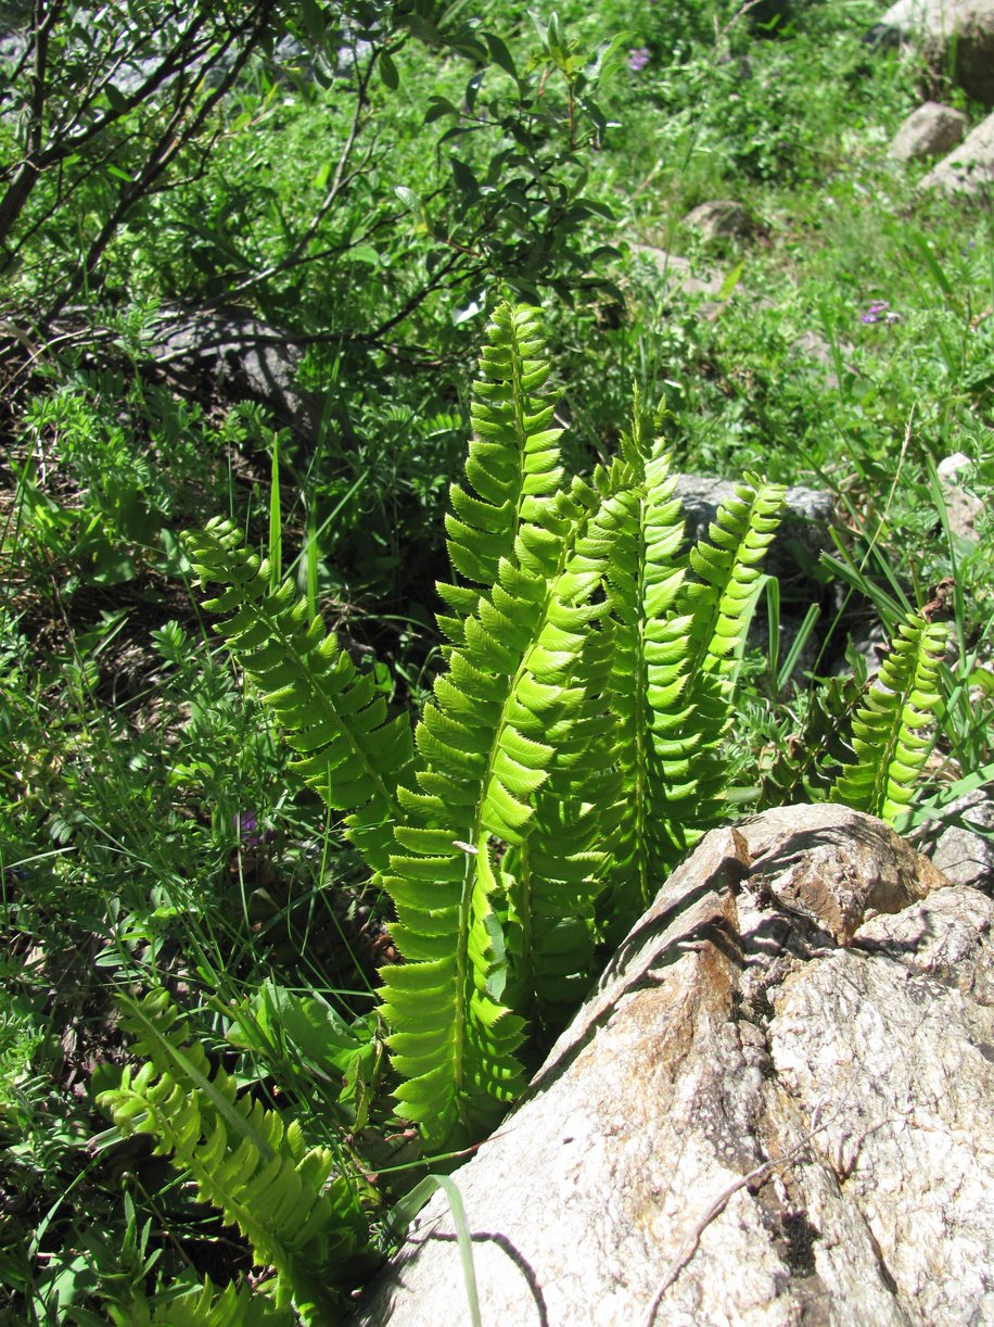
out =
{"type": "MultiPolygon", "coordinates": [[[[868,604],[887,621],[941,594],[954,649],[922,800],[989,782],[994,223],[987,206],[918,194],[924,167],[887,158],[922,72],[861,44],[876,17],[861,0],[804,8],[779,36],[747,17],[729,27],[732,9],[702,21],[700,5],[673,0],[563,16],[588,48],[630,33],[603,107],[620,127],[588,161],[587,191],[615,220],[584,223],[588,249],[618,247],[604,263],[624,303],[546,300],[567,459],[612,453],[636,381],[665,403],[683,467],[758,468],[835,492],[846,539],[822,597],[846,612],[823,660],[844,658],[846,629],[868,604]],[[725,32],[717,46],[712,17],[725,32]],[[628,49],[648,50],[641,69],[628,68],[628,49]],[[712,198],[742,202],[751,234],[704,245],[684,218],[712,198]],[[734,275],[733,288],[724,300],[663,288],[639,244],[734,275]],[[864,321],[873,301],[893,320],[864,321]],[[936,475],[954,453],[985,504],[966,540],[936,475]]],[[[516,49],[534,49],[512,28],[516,49]]],[[[371,92],[382,127],[335,218],[350,242],[386,216],[396,183],[431,196],[448,178],[444,153],[424,150],[424,109],[460,97],[467,70],[416,48],[399,64],[400,94],[371,92]]],[[[258,698],[196,609],[178,541],[220,510],[265,543],[278,422],[211,384],[178,386],[143,349],[155,301],[224,289],[241,259],[229,252],[225,265],[223,242],[286,252],[290,200],[304,211],[318,198],[323,145],[347,133],[341,110],[313,94],[256,89],[245,109],[249,122],[228,126],[204,174],[158,195],[111,248],[97,303],[113,313],[113,365],[77,337],[8,381],[0,1320],[11,1323],[101,1322],[248,1266],[159,1158],[106,1133],[94,1099],[127,1052],[122,991],[164,982],[241,1084],[292,1111],[343,1166],[378,1173],[374,1222],[423,1174],[391,1117],[370,1018],[375,969],[390,957],[383,900],[288,776],[258,698]]],[[[282,555],[293,565],[309,532],[301,587],[375,662],[391,703],[416,706],[437,660],[432,581],[482,312],[455,322],[476,287],[440,285],[398,330],[403,344],[357,352],[349,329],[403,304],[437,263],[414,223],[398,239],[383,222],[362,244],[350,271],[367,279],[343,283],[334,263],[315,263],[254,305],[321,337],[301,370],[325,401],[319,435],[280,435],[282,555]]],[[[484,304],[500,288],[488,283],[484,304]]],[[[24,291],[8,293],[13,307],[24,291]]],[[[754,790],[798,787],[804,754],[838,743],[856,683],[840,678],[816,701],[803,666],[781,686],[759,653],[749,679],[729,758],[754,790]]]]}

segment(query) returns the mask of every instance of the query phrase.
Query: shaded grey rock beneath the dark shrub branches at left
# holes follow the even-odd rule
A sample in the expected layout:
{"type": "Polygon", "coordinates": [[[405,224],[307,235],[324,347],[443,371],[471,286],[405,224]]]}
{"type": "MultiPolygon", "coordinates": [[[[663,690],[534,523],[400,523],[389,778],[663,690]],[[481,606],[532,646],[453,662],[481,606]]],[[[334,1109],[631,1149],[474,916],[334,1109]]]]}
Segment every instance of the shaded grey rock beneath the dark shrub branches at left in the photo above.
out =
{"type": "Polygon", "coordinates": [[[314,435],[317,405],[296,382],[304,352],[280,328],[239,312],[163,309],[150,353],[179,376],[209,373],[225,391],[261,401],[277,423],[314,435]]]}

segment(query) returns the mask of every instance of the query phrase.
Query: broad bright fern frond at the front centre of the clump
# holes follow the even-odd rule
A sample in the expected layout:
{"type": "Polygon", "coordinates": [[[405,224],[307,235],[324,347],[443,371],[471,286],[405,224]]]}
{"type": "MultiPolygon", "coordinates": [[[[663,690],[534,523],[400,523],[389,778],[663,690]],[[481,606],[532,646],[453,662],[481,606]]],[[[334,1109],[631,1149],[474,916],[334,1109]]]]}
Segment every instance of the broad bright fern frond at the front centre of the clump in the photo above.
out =
{"type": "Polygon", "coordinates": [[[518,998],[522,979],[531,987],[520,940],[534,930],[497,856],[524,851],[557,750],[584,717],[579,661],[604,612],[594,601],[604,553],[590,536],[600,503],[575,482],[535,511],[541,523],[522,520],[415,734],[417,788],[399,794],[404,851],[383,881],[408,962],[384,971],[382,995],[406,1079],[400,1113],[431,1140],[477,1135],[524,1085],[524,1019],[510,1005],[530,1002],[518,998]]]}

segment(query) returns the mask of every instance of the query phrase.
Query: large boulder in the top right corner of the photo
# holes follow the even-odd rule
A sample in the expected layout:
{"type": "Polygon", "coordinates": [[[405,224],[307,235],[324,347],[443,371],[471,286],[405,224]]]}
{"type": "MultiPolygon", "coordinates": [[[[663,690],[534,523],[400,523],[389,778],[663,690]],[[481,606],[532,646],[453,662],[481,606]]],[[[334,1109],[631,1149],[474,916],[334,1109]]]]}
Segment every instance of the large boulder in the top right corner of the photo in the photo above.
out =
{"type": "MultiPolygon", "coordinates": [[[[956,61],[958,85],[994,106],[994,0],[897,0],[873,32],[896,32],[921,49],[936,69],[956,61]]],[[[876,45],[884,45],[880,36],[876,45]]]]}

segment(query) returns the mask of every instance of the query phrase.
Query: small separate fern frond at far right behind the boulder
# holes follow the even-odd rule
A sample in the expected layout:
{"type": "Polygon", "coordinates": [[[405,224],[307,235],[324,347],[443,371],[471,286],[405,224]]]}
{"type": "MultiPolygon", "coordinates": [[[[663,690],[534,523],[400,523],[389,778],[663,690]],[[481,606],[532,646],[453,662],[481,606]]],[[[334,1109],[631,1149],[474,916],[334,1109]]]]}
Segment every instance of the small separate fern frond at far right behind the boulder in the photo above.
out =
{"type": "Polygon", "coordinates": [[[855,760],[835,780],[832,802],[892,823],[908,809],[932,746],[948,637],[944,622],[928,622],[920,613],[899,625],[852,721],[855,760]]]}

